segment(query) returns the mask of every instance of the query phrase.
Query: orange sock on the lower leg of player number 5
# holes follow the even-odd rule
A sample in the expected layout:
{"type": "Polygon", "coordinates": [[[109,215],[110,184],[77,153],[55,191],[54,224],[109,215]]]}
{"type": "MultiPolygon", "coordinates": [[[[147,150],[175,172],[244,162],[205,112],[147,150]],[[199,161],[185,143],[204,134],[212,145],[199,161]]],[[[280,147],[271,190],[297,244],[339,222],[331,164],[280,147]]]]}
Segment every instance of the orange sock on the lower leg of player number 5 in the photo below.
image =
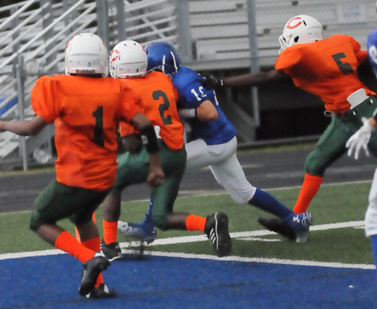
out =
{"type": "Polygon", "coordinates": [[[313,176],[308,173],[305,174],[304,182],[302,183],[293,212],[296,214],[306,212],[311,200],[317,194],[323,179],[324,177],[313,176]]]}

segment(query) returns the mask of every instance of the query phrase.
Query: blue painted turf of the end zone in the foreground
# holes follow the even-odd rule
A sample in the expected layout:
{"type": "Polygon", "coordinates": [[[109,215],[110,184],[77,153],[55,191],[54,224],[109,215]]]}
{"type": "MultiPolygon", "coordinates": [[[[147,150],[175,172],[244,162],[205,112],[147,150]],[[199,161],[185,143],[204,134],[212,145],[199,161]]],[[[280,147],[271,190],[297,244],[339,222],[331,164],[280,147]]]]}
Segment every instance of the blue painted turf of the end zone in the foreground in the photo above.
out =
{"type": "Polygon", "coordinates": [[[112,262],[117,297],[99,300],[78,294],[81,272],[67,254],[0,260],[0,307],[376,308],[373,270],[146,256],[112,262]]]}

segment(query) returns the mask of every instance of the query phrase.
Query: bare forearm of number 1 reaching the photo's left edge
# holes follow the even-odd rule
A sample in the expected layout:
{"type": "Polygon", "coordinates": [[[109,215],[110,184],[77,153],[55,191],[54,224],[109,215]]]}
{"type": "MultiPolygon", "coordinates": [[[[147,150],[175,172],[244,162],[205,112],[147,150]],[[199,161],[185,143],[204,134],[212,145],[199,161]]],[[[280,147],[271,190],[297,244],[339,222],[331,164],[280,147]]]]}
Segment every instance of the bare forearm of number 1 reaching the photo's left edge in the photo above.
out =
{"type": "Polygon", "coordinates": [[[33,119],[23,121],[0,121],[0,132],[10,131],[21,136],[35,135],[47,125],[45,119],[36,115],[33,119]]]}

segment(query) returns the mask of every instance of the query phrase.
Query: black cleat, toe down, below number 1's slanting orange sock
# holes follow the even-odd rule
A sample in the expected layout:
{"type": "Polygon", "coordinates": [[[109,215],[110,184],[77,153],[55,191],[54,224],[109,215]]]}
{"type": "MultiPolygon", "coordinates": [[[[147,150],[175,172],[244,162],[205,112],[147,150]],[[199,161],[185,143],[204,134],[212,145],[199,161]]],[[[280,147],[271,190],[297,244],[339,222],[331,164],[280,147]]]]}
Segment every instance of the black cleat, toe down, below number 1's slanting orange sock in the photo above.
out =
{"type": "Polygon", "coordinates": [[[79,288],[80,295],[86,295],[93,290],[98,275],[108,269],[109,265],[109,260],[99,254],[96,254],[83,264],[84,271],[82,272],[82,280],[79,288]]]}

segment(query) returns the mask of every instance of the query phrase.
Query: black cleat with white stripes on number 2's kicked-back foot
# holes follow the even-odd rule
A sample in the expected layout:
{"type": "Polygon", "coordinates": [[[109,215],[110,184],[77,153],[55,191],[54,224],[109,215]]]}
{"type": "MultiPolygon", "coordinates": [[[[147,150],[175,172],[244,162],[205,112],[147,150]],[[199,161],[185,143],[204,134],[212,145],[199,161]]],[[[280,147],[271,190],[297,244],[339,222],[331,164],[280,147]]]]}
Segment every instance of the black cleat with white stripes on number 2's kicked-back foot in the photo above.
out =
{"type": "Polygon", "coordinates": [[[223,212],[210,214],[206,218],[204,232],[217,252],[217,256],[229,256],[232,251],[232,240],[228,232],[228,216],[223,212]]]}

